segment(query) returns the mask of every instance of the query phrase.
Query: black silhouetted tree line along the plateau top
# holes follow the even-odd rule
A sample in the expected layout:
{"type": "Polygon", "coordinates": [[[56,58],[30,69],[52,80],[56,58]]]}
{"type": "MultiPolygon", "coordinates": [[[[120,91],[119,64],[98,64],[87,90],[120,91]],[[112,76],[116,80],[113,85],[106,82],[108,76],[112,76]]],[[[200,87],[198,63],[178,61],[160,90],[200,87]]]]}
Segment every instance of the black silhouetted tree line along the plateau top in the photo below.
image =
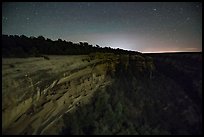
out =
{"type": "Polygon", "coordinates": [[[2,57],[38,57],[41,55],[85,55],[93,52],[136,54],[136,51],[100,47],[87,42],[73,43],[62,39],[51,40],[25,35],[2,35],[2,57]]]}

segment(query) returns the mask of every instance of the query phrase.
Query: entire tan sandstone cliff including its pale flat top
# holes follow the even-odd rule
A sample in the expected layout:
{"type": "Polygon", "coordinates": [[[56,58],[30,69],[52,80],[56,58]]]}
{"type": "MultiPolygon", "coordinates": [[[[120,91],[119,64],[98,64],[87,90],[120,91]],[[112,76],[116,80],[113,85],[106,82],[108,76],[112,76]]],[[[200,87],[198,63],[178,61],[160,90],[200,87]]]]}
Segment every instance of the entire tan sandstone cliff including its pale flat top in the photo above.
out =
{"type": "Polygon", "coordinates": [[[140,55],[49,58],[3,60],[3,134],[42,134],[65,112],[86,104],[97,89],[110,85],[119,67],[131,65],[136,71],[148,67],[140,55]]]}

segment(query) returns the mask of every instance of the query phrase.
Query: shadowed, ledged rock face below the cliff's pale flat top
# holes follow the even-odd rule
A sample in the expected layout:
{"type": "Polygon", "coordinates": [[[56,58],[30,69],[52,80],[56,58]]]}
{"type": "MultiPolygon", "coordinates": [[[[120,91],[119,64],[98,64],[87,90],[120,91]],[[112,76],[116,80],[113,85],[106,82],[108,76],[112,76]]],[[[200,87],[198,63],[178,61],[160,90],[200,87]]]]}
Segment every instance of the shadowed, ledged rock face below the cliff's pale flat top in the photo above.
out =
{"type": "Polygon", "coordinates": [[[32,96],[5,108],[2,111],[3,134],[43,134],[62,114],[87,103],[97,88],[111,84],[119,64],[126,69],[131,65],[136,71],[147,66],[145,58],[139,55],[119,57],[98,53],[92,54],[89,60],[92,61],[87,66],[65,71],[44,89],[34,84],[36,90],[32,96]]]}

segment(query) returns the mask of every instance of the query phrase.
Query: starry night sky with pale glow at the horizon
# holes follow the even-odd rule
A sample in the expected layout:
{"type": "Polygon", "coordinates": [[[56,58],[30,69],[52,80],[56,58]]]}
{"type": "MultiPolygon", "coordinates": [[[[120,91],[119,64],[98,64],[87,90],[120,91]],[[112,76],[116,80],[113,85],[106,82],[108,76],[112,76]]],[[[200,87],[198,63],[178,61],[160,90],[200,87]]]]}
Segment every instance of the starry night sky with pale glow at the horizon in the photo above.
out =
{"type": "Polygon", "coordinates": [[[7,2],[2,33],[140,52],[202,51],[202,3],[7,2]]]}

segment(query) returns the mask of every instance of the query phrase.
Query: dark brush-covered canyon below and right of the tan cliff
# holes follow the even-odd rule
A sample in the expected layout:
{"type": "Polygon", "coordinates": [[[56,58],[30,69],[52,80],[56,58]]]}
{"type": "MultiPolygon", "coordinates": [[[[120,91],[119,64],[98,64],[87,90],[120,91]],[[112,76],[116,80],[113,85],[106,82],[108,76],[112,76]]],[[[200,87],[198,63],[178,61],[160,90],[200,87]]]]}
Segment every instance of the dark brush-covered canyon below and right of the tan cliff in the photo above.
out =
{"type": "Polygon", "coordinates": [[[202,53],[143,54],[152,77],[131,65],[92,102],[66,114],[61,134],[202,134],[202,53]]]}

